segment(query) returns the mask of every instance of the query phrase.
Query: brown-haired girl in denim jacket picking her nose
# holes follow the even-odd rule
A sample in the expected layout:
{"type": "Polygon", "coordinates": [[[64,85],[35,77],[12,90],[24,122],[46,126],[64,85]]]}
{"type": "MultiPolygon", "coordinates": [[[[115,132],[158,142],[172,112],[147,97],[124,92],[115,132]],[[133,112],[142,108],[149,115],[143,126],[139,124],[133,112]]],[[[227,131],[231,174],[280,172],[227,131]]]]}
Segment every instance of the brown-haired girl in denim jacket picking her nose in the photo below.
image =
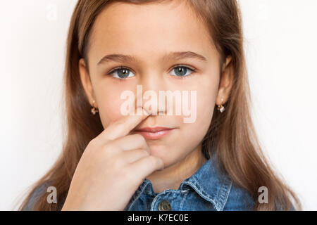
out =
{"type": "Polygon", "coordinates": [[[63,152],[20,210],[301,209],[256,139],[235,0],[79,0],[65,87],[63,152]],[[150,110],[138,85],[195,91],[197,117],[150,110]]]}

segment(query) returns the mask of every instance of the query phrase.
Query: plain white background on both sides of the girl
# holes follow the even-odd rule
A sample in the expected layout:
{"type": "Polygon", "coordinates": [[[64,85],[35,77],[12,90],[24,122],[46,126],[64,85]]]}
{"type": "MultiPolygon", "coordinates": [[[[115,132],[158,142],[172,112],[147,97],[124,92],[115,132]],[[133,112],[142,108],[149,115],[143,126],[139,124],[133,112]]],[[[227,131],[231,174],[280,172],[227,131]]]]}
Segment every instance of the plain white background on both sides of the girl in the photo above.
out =
{"type": "MultiPolygon", "coordinates": [[[[0,210],[61,153],[62,77],[75,0],[2,0],[0,210]]],[[[241,0],[252,115],[304,210],[317,210],[317,1],[241,0]]]]}

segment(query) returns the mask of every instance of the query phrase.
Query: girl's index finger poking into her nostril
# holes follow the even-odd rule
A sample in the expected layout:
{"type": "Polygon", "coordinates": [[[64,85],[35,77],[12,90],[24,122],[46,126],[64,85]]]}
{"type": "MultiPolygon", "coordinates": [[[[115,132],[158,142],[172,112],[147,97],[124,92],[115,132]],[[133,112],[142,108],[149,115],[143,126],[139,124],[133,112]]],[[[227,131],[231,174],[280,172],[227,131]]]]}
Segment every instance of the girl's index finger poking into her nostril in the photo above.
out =
{"type": "Polygon", "coordinates": [[[142,115],[126,115],[120,120],[109,124],[108,127],[101,132],[101,139],[114,140],[126,136],[147,117],[149,117],[149,113],[144,109],[142,109],[142,115]]]}

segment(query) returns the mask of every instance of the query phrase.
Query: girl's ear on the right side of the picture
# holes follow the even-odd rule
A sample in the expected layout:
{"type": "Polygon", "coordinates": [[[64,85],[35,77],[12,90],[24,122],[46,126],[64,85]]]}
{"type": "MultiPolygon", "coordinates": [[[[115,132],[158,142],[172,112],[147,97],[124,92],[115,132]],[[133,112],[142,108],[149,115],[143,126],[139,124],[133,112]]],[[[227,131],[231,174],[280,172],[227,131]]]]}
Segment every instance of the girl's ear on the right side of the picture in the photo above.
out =
{"type": "Polygon", "coordinates": [[[233,77],[234,77],[234,68],[231,63],[231,60],[232,60],[232,57],[228,56],[228,58],[226,58],[225,60],[225,63],[223,64],[218,96],[216,98],[217,105],[225,104],[228,101],[228,98],[230,96],[230,91],[232,88],[233,77]],[[221,103],[222,99],[223,99],[223,102],[221,103]]]}

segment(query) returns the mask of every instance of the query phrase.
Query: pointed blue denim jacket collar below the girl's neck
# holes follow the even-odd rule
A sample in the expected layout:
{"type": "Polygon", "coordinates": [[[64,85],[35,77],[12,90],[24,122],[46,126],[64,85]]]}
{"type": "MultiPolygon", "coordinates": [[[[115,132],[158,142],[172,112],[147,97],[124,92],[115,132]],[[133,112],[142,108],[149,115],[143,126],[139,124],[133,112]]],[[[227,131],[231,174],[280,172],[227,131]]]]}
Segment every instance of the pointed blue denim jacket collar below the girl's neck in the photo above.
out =
{"type": "MultiPolygon", "coordinates": [[[[180,191],[194,189],[201,198],[212,203],[216,210],[221,211],[227,202],[232,181],[217,169],[215,156],[207,160],[192,176],[182,181],[179,189],[180,191]]],[[[131,201],[139,198],[142,193],[153,197],[156,195],[149,179],[144,179],[131,201]]]]}

